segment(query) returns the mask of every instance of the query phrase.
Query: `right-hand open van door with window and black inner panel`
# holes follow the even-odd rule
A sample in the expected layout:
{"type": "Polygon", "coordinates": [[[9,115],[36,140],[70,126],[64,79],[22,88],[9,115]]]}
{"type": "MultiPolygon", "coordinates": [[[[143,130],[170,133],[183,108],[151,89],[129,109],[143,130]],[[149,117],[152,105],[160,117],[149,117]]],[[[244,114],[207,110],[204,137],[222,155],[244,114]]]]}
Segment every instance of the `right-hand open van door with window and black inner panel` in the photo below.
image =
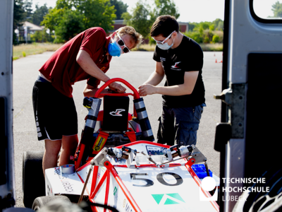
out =
{"type": "Polygon", "coordinates": [[[259,18],[254,1],[225,1],[220,211],[282,210],[282,20],[259,18]]]}

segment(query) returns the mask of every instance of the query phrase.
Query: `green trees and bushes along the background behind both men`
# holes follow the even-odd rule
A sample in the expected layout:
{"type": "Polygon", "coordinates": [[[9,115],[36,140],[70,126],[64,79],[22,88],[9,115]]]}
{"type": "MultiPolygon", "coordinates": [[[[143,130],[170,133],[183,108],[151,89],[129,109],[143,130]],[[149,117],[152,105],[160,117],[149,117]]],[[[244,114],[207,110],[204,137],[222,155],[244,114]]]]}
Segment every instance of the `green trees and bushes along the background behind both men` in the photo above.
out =
{"type": "MultiPolygon", "coordinates": [[[[272,5],[272,11],[274,17],[282,17],[282,4],[277,1],[272,5]]],[[[140,0],[131,11],[128,11],[128,5],[123,4],[122,0],[57,0],[54,8],[48,8],[47,4],[36,4],[35,10],[32,9],[32,0],[15,0],[13,26],[15,30],[25,20],[43,25],[44,30],[32,35],[32,40],[59,43],[94,26],[104,28],[109,33],[114,29],[114,20],[123,19],[126,25],[133,26],[153,44],[149,31],[154,20],[161,15],[179,18],[180,13],[173,0],[154,0],[154,5],[140,0]]],[[[219,18],[212,22],[189,22],[188,25],[188,32],[182,33],[198,43],[223,42],[223,20],[219,18]]]]}

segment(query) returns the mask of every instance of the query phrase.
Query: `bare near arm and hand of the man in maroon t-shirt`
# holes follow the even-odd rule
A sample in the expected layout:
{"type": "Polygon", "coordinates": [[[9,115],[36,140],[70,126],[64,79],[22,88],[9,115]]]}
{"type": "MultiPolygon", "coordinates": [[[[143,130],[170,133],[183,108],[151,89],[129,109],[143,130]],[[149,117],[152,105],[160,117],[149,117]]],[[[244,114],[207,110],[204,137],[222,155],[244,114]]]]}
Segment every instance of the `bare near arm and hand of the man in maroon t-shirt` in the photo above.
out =
{"type": "MultiPolygon", "coordinates": [[[[86,73],[93,76],[94,78],[99,79],[99,81],[106,82],[110,80],[109,76],[106,76],[106,74],[98,68],[98,66],[94,63],[94,61],[90,57],[90,54],[85,52],[85,50],[80,50],[78,52],[76,61],[86,73]]],[[[111,83],[109,85],[109,88],[118,91],[118,93],[123,93],[126,90],[126,88],[124,88],[118,83],[111,83]]]]}

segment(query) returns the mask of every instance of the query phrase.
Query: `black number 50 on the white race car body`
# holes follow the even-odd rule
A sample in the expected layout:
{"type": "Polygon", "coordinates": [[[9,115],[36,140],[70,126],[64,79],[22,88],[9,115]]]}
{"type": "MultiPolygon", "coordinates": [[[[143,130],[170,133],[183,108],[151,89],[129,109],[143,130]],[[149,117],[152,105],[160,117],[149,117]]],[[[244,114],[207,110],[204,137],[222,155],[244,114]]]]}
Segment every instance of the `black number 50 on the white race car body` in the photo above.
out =
{"type": "MultiPolygon", "coordinates": [[[[148,175],[147,173],[130,173],[130,178],[133,180],[143,180],[145,182],[147,182],[147,184],[144,185],[139,185],[139,184],[133,184],[133,186],[135,187],[152,187],[152,185],[154,185],[154,182],[151,179],[145,179],[145,178],[136,178],[136,175],[148,175]]],[[[168,187],[174,187],[174,186],[178,186],[180,184],[183,183],[183,179],[182,177],[180,177],[179,175],[172,173],[172,172],[163,172],[163,173],[159,173],[157,175],[157,180],[161,183],[164,184],[168,187]],[[164,181],[164,175],[171,175],[174,178],[176,178],[176,183],[175,184],[169,184],[166,181],[164,181]]]]}

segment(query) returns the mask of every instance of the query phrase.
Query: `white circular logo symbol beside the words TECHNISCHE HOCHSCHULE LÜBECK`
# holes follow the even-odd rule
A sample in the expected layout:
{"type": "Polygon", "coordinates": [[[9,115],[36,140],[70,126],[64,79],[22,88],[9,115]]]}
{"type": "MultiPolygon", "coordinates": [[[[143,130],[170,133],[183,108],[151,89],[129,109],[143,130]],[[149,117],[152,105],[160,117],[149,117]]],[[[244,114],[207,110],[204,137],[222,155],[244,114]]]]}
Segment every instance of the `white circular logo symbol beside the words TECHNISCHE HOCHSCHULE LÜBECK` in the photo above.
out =
{"type": "Polygon", "coordinates": [[[211,197],[207,197],[206,195],[204,195],[204,192],[201,190],[201,187],[199,187],[200,201],[216,201],[218,196],[216,180],[212,177],[204,177],[204,179],[202,179],[202,189],[205,192],[209,193],[214,190],[214,188],[216,188],[214,195],[212,195],[211,197]]]}

